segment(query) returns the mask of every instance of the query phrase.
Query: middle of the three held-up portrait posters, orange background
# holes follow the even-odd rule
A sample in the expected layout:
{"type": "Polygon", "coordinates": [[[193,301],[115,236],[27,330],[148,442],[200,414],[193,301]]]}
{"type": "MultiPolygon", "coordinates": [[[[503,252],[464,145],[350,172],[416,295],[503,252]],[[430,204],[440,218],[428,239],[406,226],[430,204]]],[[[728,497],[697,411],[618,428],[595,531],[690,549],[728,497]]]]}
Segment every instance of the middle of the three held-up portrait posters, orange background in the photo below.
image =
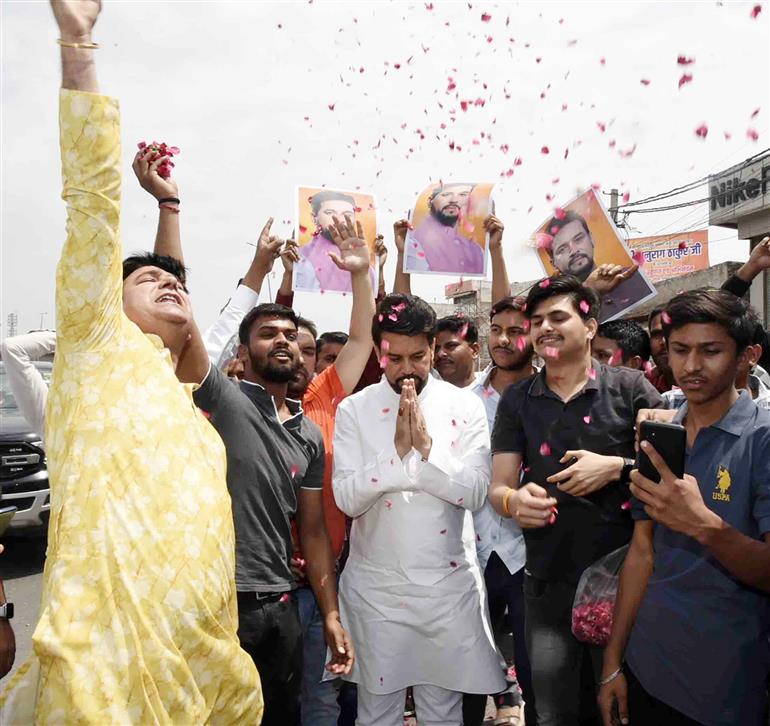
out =
{"type": "Polygon", "coordinates": [[[406,236],[404,272],[484,277],[494,184],[438,182],[422,191],[406,236]]]}

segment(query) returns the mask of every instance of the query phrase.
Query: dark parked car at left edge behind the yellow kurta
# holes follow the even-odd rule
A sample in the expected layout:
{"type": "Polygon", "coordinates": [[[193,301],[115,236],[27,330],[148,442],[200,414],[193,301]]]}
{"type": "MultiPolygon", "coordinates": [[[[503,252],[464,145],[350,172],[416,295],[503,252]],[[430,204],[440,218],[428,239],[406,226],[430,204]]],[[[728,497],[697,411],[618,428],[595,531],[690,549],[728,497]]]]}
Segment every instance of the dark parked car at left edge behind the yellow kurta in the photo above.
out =
{"type": "MultiPolygon", "coordinates": [[[[51,363],[35,363],[51,380],[51,363]]],[[[0,362],[0,506],[18,511],[6,534],[38,527],[44,531],[51,508],[42,434],[32,431],[16,405],[0,362]]]]}

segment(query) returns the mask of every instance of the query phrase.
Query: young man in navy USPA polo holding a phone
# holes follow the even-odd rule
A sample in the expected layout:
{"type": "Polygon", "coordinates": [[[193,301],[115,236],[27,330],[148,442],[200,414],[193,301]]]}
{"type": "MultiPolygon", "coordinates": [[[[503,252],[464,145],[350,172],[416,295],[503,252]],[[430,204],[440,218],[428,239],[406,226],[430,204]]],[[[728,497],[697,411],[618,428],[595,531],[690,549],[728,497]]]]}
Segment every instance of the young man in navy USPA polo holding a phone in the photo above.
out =
{"type": "Polygon", "coordinates": [[[740,298],[674,298],[664,333],[687,396],[677,479],[631,474],[634,535],[599,703],[604,723],[759,726],[770,672],[770,412],[735,389],[756,318],[740,298]],[[625,655],[625,666],[623,659],[625,655]]]}

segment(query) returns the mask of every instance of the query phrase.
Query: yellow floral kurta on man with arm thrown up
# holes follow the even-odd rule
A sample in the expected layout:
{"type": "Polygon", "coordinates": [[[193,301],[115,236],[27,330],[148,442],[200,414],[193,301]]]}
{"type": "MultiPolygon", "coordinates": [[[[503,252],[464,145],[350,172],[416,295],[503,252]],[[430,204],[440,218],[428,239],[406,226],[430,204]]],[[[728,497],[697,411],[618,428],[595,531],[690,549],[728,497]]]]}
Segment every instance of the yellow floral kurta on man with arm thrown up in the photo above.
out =
{"type": "Polygon", "coordinates": [[[66,90],[60,102],[48,559],[34,655],[0,723],[258,724],[224,446],[160,339],[123,313],[118,103],[66,90]]]}

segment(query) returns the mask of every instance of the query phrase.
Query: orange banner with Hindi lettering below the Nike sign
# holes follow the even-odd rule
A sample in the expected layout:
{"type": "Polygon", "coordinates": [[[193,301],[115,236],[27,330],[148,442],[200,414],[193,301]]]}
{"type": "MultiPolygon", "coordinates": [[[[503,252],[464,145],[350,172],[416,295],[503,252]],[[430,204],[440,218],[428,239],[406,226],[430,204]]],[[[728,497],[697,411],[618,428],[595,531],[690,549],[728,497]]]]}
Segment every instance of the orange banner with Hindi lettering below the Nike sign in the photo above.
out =
{"type": "Polygon", "coordinates": [[[709,268],[707,229],[635,237],[628,240],[628,246],[644,255],[644,274],[653,282],[709,268]]]}

